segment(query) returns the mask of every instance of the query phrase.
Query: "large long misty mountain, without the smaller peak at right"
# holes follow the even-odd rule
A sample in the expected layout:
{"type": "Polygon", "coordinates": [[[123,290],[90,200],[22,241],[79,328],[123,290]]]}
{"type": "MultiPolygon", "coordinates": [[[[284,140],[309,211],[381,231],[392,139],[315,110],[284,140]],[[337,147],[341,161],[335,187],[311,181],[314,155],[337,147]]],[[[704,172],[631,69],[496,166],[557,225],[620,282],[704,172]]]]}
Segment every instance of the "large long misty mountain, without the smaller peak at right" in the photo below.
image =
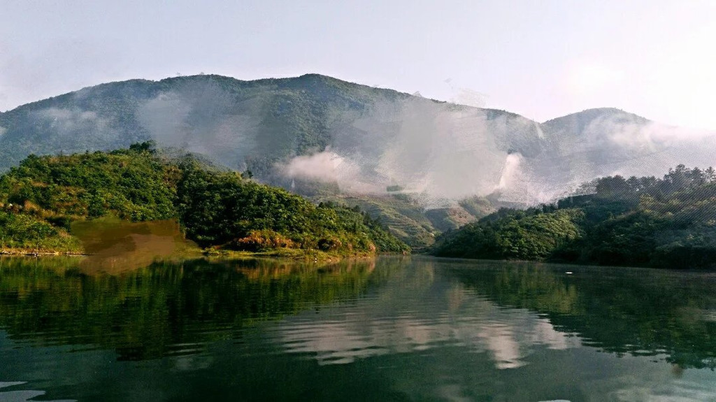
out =
{"type": "Polygon", "coordinates": [[[508,151],[539,148],[538,124],[518,114],[317,74],[101,84],[1,113],[0,127],[0,169],[30,153],[156,139],[299,190],[308,179],[359,193],[400,185],[438,198],[490,192],[508,151]]]}

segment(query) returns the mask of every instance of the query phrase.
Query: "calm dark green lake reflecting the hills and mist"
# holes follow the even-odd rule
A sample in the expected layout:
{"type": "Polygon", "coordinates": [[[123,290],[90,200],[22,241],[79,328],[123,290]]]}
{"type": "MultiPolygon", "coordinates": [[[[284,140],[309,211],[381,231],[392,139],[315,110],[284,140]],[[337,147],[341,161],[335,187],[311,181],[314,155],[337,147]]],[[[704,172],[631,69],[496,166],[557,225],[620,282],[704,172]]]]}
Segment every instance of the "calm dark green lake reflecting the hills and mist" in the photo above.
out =
{"type": "Polygon", "coordinates": [[[0,258],[0,401],[716,401],[715,273],[94,266],[0,258]]]}

